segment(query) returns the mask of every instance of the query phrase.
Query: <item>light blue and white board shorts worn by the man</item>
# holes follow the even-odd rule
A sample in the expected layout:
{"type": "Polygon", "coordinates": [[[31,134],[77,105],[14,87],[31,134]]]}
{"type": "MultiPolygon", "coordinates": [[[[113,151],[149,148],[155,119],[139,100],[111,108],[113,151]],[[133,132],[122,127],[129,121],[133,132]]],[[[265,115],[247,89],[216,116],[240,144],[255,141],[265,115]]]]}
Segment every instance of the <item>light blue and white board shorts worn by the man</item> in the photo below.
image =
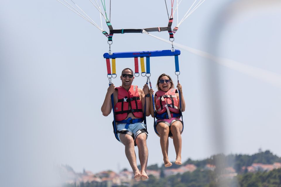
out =
{"type": "Polygon", "coordinates": [[[131,135],[134,138],[134,141],[136,141],[136,137],[141,133],[145,133],[146,138],[148,137],[148,132],[146,131],[146,124],[141,122],[133,123],[133,124],[119,123],[116,125],[116,128],[117,128],[117,136],[119,140],[120,140],[120,134],[131,135]]]}

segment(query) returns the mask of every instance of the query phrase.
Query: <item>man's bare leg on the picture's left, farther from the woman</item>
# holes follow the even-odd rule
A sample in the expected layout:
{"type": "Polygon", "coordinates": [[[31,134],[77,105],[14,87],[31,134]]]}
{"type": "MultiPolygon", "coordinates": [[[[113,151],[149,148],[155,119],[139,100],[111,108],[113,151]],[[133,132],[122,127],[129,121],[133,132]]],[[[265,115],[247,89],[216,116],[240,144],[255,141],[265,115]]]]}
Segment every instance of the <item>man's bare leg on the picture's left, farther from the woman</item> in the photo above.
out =
{"type": "Polygon", "coordinates": [[[120,140],[125,145],[125,154],[133,169],[135,179],[140,179],[141,174],[137,167],[135,142],[133,137],[128,134],[120,134],[120,140]]]}

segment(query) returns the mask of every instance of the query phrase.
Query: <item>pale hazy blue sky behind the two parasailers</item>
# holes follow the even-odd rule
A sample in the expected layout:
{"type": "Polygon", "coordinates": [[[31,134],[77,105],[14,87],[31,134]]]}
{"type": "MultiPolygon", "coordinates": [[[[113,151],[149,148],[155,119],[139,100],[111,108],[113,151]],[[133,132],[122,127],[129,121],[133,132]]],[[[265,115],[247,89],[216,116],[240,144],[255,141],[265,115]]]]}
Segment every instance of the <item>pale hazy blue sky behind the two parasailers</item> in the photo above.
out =
{"type": "MultiPolygon", "coordinates": [[[[101,25],[90,1],[75,2],[101,25]]],[[[192,3],[181,2],[179,19],[192,3]]],[[[281,156],[280,9],[277,0],[207,0],[180,25],[174,46],[181,50],[186,102],[183,161],[259,148],[281,156]]],[[[167,20],[164,1],[112,1],[114,29],[165,27],[167,20]]],[[[57,165],[93,173],[130,169],[112,114],[100,111],[108,87],[103,54],[109,50],[100,30],[58,1],[4,1],[0,23],[1,181],[56,186],[57,165]]],[[[174,15],[172,27],[176,23],[174,15]]],[[[104,20],[102,27],[108,32],[104,20]]],[[[169,39],[167,32],[150,34],[169,39]]],[[[112,52],[166,49],[170,43],[140,33],[114,34],[111,46],[112,52]]],[[[154,90],[162,73],[177,79],[173,60],[150,59],[154,90]]],[[[134,69],[133,59],[116,60],[116,86],[125,67],[134,69]]],[[[133,84],[145,81],[136,77],[133,84]]],[[[161,166],[153,118],[147,124],[148,165],[161,166]]],[[[174,161],[172,140],[169,145],[174,161]]]]}

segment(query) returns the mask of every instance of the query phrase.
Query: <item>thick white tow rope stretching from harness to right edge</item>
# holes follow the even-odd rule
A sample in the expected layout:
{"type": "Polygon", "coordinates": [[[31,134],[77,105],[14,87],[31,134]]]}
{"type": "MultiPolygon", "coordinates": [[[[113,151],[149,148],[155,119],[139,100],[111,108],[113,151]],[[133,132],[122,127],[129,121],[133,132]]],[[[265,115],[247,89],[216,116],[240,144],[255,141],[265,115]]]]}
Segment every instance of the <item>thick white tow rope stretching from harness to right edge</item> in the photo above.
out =
{"type": "MultiPolygon", "coordinates": [[[[145,32],[144,30],[143,30],[143,33],[148,34],[148,35],[150,35],[152,37],[155,37],[155,38],[157,38],[161,41],[164,41],[164,42],[167,42],[167,43],[171,44],[171,42],[169,40],[154,36],[152,34],[149,34],[148,32],[145,32]]],[[[200,51],[198,49],[194,49],[194,48],[182,45],[182,44],[177,44],[175,42],[173,42],[173,45],[177,46],[181,49],[184,49],[186,51],[189,51],[193,54],[196,54],[198,56],[202,56],[204,58],[212,60],[215,63],[218,63],[220,65],[228,67],[232,70],[236,70],[238,72],[244,73],[244,74],[249,75],[251,77],[254,77],[256,79],[260,79],[262,81],[268,82],[270,84],[273,84],[274,86],[281,87],[281,75],[278,74],[278,73],[271,72],[271,71],[268,71],[268,70],[264,70],[264,69],[261,69],[261,68],[258,68],[258,67],[246,65],[246,64],[237,62],[235,60],[217,57],[217,56],[214,56],[210,53],[200,51]]]]}

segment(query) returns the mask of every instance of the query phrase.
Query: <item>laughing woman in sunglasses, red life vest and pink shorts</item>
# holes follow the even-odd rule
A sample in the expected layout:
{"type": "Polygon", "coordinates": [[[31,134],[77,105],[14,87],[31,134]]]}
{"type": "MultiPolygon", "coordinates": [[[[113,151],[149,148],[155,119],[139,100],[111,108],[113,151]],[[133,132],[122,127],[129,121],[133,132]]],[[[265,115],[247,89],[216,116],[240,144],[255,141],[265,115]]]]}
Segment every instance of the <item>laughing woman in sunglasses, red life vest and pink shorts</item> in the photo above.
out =
{"type": "MultiPolygon", "coordinates": [[[[181,93],[181,111],[180,111],[180,100],[177,89],[174,88],[174,83],[169,75],[162,74],[157,80],[157,89],[155,93],[155,132],[160,136],[160,146],[162,149],[163,160],[165,167],[172,166],[172,163],[168,158],[168,138],[173,138],[174,147],[176,151],[175,164],[181,165],[181,133],[183,131],[183,123],[180,120],[181,111],[185,110],[185,102],[182,94],[181,84],[177,84],[177,88],[181,93]]],[[[150,89],[150,95],[153,94],[153,89],[150,89]]],[[[150,99],[150,113],[154,117],[152,97],[150,99]]]]}

